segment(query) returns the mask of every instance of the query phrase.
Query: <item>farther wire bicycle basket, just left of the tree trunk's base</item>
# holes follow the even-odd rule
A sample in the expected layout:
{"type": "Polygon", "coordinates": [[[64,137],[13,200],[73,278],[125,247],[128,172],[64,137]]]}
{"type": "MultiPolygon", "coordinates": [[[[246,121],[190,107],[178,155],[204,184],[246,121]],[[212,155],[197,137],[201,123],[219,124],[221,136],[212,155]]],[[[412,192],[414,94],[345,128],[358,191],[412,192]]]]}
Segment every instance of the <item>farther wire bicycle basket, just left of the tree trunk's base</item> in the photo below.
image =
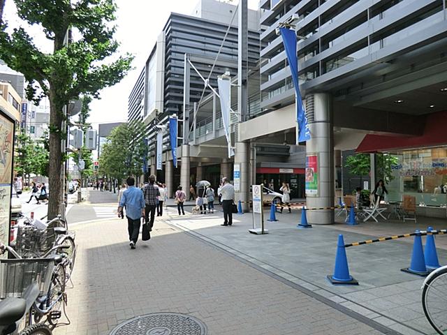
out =
{"type": "Polygon", "coordinates": [[[22,258],[40,257],[52,248],[55,236],[53,228],[39,230],[33,226],[20,226],[15,251],[22,258]]]}

